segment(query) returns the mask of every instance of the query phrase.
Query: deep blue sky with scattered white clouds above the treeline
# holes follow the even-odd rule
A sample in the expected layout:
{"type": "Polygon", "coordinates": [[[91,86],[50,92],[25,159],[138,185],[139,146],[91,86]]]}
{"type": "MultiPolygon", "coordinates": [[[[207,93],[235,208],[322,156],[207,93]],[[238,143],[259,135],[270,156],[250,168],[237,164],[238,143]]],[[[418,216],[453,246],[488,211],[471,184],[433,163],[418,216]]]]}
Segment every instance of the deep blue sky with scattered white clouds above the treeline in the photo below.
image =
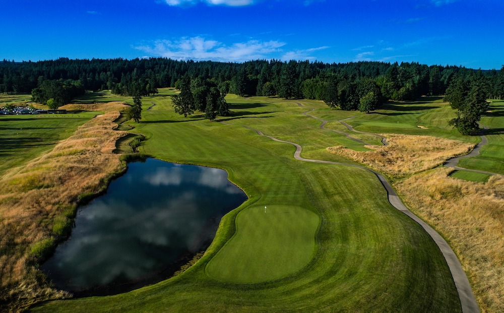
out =
{"type": "Polygon", "coordinates": [[[418,61],[500,69],[501,0],[0,0],[0,59],[418,61]]]}

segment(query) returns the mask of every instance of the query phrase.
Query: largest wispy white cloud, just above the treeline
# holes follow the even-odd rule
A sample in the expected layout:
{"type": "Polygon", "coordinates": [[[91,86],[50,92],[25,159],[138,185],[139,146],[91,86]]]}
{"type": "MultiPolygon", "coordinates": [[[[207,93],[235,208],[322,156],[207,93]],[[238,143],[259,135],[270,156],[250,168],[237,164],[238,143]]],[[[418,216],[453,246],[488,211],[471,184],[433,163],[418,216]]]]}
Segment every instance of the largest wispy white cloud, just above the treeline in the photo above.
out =
{"type": "MultiPolygon", "coordinates": [[[[214,0],[216,1],[216,0],[214,0]]],[[[183,37],[178,40],[157,40],[150,45],[135,48],[149,56],[162,56],[176,60],[214,60],[243,62],[253,59],[270,58],[280,52],[284,42],[249,40],[226,45],[216,40],[202,37],[183,37]]]]}

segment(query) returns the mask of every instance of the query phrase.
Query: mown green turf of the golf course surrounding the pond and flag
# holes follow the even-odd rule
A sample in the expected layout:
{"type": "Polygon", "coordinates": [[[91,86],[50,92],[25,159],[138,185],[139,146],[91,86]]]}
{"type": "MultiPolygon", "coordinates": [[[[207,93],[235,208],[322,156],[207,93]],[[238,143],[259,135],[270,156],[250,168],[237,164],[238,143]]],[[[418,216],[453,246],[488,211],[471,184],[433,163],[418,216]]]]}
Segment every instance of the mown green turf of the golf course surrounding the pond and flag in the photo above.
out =
{"type": "MultiPolygon", "coordinates": [[[[382,143],[387,134],[435,137],[473,147],[479,137],[460,135],[448,126],[454,111],[442,98],[391,102],[365,114],[330,109],[317,100],[229,94],[226,99],[231,114],[209,121],[201,112],[188,117],[175,113],[171,100],[174,94],[174,89],[160,89],[158,95],[144,97],[142,120],[125,122],[121,129],[128,125],[133,127],[130,133],[145,136],[139,147],[145,155],[225,169],[248,201],[222,218],[203,257],[183,273],[113,296],[38,303],[30,308],[32,311],[463,310],[460,290],[439,246],[419,223],[391,205],[390,193],[369,170],[372,165],[328,151],[328,147],[337,146],[370,153],[375,149],[372,147],[388,147],[382,143]],[[293,143],[301,149],[296,152],[293,143]]],[[[86,98],[81,103],[86,103],[86,98]]],[[[499,134],[504,102],[493,105],[494,115],[481,121],[490,128],[488,146],[459,166],[491,169],[495,175],[459,170],[450,172],[453,177],[446,175],[446,179],[484,184],[501,173],[498,167],[480,165],[480,160],[497,164],[503,159],[498,146],[504,142],[499,134]],[[477,182],[470,182],[473,180],[477,182]]],[[[45,132],[50,135],[47,138],[31,133],[45,143],[46,150],[17,145],[21,146],[17,149],[28,151],[26,159],[15,160],[3,170],[45,153],[56,139],[70,136],[79,124],[96,114],[82,112],[80,117],[69,114],[60,119],[32,117],[35,120],[8,117],[19,128],[28,127],[25,123],[31,121],[32,127],[42,129],[50,121],[54,131],[45,132]],[[66,123],[65,132],[56,131],[60,121],[66,123]]],[[[6,130],[2,132],[6,136],[6,130]]],[[[390,146],[394,146],[393,141],[390,146]]],[[[443,161],[436,164],[419,174],[391,172],[382,177],[397,188],[396,182],[400,185],[417,175],[449,170],[443,167],[443,161]]],[[[414,213],[442,232],[452,247],[463,244],[442,224],[429,221],[421,209],[415,211],[417,207],[410,205],[414,198],[401,189],[398,194],[414,213]]],[[[464,250],[454,250],[461,259],[464,250]]],[[[471,284],[476,281],[473,289],[478,305],[498,307],[498,301],[485,302],[487,291],[478,287],[485,285],[484,278],[478,276],[478,270],[471,272],[470,256],[463,255],[462,261],[471,284]]],[[[501,288],[497,282],[492,292],[501,288]]],[[[466,307],[465,311],[478,311],[478,307],[470,309],[466,307]]]]}

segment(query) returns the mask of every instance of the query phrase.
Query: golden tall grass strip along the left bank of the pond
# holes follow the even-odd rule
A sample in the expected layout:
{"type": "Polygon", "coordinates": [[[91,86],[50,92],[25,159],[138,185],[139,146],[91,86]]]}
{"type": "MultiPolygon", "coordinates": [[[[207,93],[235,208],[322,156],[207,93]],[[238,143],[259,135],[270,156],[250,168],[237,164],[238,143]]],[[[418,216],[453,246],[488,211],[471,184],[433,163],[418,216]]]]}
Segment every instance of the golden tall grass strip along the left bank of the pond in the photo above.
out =
{"type": "Polygon", "coordinates": [[[34,261],[64,237],[80,196],[99,193],[124,169],[112,153],[128,134],[115,130],[118,117],[118,111],[96,116],[51,152],[0,177],[0,311],[66,296],[50,288],[34,261]]]}

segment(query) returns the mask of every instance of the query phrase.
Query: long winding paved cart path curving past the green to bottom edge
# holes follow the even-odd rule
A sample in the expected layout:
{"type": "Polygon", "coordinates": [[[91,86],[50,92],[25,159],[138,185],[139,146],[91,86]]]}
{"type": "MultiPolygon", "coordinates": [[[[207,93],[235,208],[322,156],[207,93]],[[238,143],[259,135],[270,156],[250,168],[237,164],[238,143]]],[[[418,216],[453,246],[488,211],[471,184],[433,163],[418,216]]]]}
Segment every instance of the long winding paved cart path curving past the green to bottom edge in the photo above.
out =
{"type": "MultiPolygon", "coordinates": [[[[227,124],[225,122],[221,122],[223,124],[227,124]]],[[[471,285],[469,283],[469,280],[467,279],[466,273],[462,269],[462,265],[459,262],[459,259],[453,252],[452,248],[450,245],[446,242],[446,240],[439,235],[432,227],[430,227],[427,223],[425,223],[423,220],[421,220],[419,217],[414,215],[411,211],[406,208],[406,206],[401,202],[401,199],[397,196],[396,192],[392,188],[392,185],[387,181],[387,179],[380,173],[363,167],[359,165],[353,165],[353,164],[346,164],[346,163],[340,163],[340,162],[332,162],[332,161],[324,161],[324,160],[313,160],[313,159],[305,159],[301,157],[301,151],[302,147],[296,143],[289,142],[289,141],[284,141],[277,139],[272,136],[268,136],[263,134],[261,131],[253,129],[248,126],[242,126],[246,129],[255,131],[258,133],[260,136],[267,137],[271,140],[281,142],[281,143],[286,143],[290,144],[296,147],[296,152],[294,152],[294,158],[299,161],[305,161],[305,162],[314,162],[314,163],[324,163],[324,164],[335,164],[335,165],[346,165],[346,166],[353,166],[353,167],[358,167],[367,171],[370,171],[376,177],[380,180],[382,185],[384,186],[385,190],[387,191],[387,198],[390,202],[390,204],[396,208],[397,210],[403,212],[407,216],[409,216],[412,220],[417,222],[420,226],[422,226],[423,229],[430,235],[430,237],[434,240],[434,242],[437,244],[439,247],[441,253],[445,257],[445,260],[448,264],[448,267],[450,269],[450,272],[452,273],[453,280],[455,282],[455,287],[457,288],[457,291],[459,293],[459,298],[460,302],[462,305],[462,312],[463,313],[473,313],[473,312],[479,312],[479,307],[478,303],[476,302],[476,298],[474,297],[474,293],[472,292],[471,285]]]]}

